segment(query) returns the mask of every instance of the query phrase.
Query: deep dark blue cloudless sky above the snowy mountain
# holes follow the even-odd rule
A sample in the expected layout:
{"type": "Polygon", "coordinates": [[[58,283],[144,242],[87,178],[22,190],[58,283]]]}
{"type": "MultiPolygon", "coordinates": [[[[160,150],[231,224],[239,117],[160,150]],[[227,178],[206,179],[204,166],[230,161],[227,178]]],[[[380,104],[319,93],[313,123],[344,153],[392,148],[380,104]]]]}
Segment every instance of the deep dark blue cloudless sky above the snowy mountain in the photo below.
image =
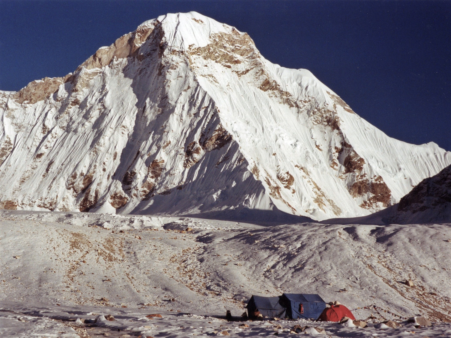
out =
{"type": "Polygon", "coordinates": [[[143,21],[191,10],[309,69],[389,136],[451,150],[451,1],[0,0],[0,89],[64,76],[143,21]]]}

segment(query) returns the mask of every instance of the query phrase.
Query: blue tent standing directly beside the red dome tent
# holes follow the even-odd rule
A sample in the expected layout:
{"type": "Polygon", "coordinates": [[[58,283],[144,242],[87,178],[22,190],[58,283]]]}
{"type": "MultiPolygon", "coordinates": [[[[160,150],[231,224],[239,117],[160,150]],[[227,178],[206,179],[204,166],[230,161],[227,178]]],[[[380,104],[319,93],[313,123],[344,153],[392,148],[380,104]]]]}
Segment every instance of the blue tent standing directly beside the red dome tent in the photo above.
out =
{"type": "Polygon", "coordinates": [[[284,293],[280,303],[286,308],[286,316],[290,319],[317,320],[326,308],[326,302],[317,294],[284,293]]]}

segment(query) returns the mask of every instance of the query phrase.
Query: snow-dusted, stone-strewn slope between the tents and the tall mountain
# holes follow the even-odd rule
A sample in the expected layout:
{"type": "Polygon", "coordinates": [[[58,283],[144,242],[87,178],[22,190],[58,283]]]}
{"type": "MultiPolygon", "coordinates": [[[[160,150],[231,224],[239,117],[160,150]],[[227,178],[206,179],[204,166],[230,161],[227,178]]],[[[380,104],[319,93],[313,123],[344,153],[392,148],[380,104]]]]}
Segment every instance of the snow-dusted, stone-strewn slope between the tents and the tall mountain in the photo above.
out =
{"type": "Polygon", "coordinates": [[[448,225],[262,226],[9,210],[1,219],[3,301],[241,315],[252,294],[305,292],[338,300],[360,319],[451,320],[448,225]]]}

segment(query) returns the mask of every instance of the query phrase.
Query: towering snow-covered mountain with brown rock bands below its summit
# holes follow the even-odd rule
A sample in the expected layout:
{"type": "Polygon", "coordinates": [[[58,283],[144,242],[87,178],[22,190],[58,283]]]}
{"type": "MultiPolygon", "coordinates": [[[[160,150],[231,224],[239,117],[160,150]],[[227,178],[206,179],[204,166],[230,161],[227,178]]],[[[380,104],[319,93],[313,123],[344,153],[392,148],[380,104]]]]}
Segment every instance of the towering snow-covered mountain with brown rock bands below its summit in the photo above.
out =
{"type": "Polygon", "coordinates": [[[246,33],[167,14],[74,74],[0,92],[5,209],[368,215],[451,164],[387,137],[246,33]]]}

